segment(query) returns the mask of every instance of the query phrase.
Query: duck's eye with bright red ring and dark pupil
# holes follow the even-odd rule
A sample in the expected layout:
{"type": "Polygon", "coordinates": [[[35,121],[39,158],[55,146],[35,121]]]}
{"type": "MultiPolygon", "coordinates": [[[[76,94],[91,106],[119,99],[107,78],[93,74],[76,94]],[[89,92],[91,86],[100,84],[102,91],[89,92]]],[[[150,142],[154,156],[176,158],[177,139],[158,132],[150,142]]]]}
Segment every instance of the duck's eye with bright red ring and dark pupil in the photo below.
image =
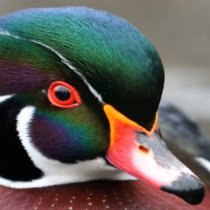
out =
{"type": "Polygon", "coordinates": [[[81,104],[77,90],[66,82],[53,82],[48,89],[50,102],[61,108],[73,108],[81,104]]]}

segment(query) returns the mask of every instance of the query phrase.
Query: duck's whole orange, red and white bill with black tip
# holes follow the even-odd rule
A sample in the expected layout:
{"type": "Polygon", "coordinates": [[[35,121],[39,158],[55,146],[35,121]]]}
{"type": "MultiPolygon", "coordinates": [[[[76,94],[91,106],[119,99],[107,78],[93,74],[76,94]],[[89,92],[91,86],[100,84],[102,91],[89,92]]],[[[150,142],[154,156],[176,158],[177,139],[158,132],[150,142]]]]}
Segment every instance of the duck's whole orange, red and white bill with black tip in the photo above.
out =
{"type": "Polygon", "coordinates": [[[111,139],[106,158],[112,165],[190,204],[203,200],[204,184],[161,140],[157,114],[148,131],[111,105],[104,105],[104,112],[109,120],[111,139]]]}

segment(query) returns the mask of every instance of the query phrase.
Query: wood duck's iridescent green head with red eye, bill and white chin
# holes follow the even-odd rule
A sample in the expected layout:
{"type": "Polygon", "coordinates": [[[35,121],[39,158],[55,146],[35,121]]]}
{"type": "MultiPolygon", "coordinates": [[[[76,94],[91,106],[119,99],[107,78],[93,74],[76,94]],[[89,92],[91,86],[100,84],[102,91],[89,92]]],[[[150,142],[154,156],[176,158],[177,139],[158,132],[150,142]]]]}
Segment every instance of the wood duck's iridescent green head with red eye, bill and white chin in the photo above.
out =
{"type": "Polygon", "coordinates": [[[130,23],[84,7],[0,18],[0,184],[141,179],[191,204],[204,184],[158,128],[161,59],[130,23]]]}

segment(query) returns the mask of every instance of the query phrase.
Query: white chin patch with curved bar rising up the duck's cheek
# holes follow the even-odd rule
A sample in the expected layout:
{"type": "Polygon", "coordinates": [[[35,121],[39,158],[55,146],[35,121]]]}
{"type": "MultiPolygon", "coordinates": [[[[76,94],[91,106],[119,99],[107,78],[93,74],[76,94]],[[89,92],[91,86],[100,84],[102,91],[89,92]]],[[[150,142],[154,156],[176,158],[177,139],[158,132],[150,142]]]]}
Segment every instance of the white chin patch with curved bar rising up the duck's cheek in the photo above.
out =
{"type": "Polygon", "coordinates": [[[34,112],[35,107],[32,106],[24,107],[20,111],[17,116],[17,131],[20,141],[33,164],[44,175],[39,179],[25,182],[0,178],[1,185],[12,188],[35,188],[91,180],[136,180],[135,177],[107,165],[106,161],[101,157],[94,160],[78,161],[75,164],[66,164],[44,156],[33,145],[30,138],[30,123],[33,120],[34,112]]]}

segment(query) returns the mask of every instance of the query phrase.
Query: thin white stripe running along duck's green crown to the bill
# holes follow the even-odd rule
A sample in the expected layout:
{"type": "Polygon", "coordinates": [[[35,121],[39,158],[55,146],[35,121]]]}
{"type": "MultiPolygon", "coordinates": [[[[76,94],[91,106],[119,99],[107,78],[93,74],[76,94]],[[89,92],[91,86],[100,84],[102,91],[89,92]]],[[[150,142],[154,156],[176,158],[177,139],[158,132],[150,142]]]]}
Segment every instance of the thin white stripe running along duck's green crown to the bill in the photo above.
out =
{"type": "Polygon", "coordinates": [[[102,96],[92,87],[92,85],[87,81],[87,79],[84,77],[84,75],[76,67],[74,67],[68,59],[66,59],[63,55],[61,55],[57,50],[55,50],[54,48],[52,48],[49,45],[46,45],[46,44],[43,44],[43,43],[39,42],[39,41],[35,41],[35,40],[32,40],[32,39],[29,39],[28,40],[28,39],[25,39],[25,38],[21,38],[21,37],[12,35],[8,31],[5,31],[5,30],[3,30],[1,28],[0,28],[0,34],[6,35],[6,36],[11,36],[11,37],[16,38],[16,39],[31,41],[33,43],[36,43],[38,45],[41,45],[41,46],[47,48],[48,50],[50,50],[51,52],[53,52],[54,54],[56,54],[61,59],[62,63],[64,63],[66,66],[68,66],[68,68],[70,68],[72,71],[74,71],[74,73],[76,73],[83,80],[83,82],[87,85],[87,87],[89,88],[90,92],[101,103],[103,103],[102,96]]]}

